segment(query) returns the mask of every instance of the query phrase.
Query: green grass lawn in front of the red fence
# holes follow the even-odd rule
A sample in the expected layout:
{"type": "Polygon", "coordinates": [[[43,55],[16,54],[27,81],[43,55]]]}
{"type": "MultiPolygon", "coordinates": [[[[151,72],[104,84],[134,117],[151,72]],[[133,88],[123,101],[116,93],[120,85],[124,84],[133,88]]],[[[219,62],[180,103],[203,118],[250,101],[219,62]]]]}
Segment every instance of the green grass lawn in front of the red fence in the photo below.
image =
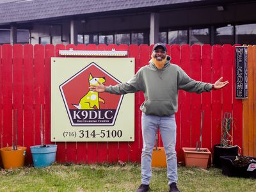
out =
{"type": "MultiPolygon", "coordinates": [[[[0,191],[136,191],[140,164],[53,164],[0,170],[0,191]]],[[[151,191],[168,191],[166,168],[153,168],[151,191]]],[[[255,191],[255,179],[226,177],[221,170],[179,167],[180,191],[255,191]]]]}

